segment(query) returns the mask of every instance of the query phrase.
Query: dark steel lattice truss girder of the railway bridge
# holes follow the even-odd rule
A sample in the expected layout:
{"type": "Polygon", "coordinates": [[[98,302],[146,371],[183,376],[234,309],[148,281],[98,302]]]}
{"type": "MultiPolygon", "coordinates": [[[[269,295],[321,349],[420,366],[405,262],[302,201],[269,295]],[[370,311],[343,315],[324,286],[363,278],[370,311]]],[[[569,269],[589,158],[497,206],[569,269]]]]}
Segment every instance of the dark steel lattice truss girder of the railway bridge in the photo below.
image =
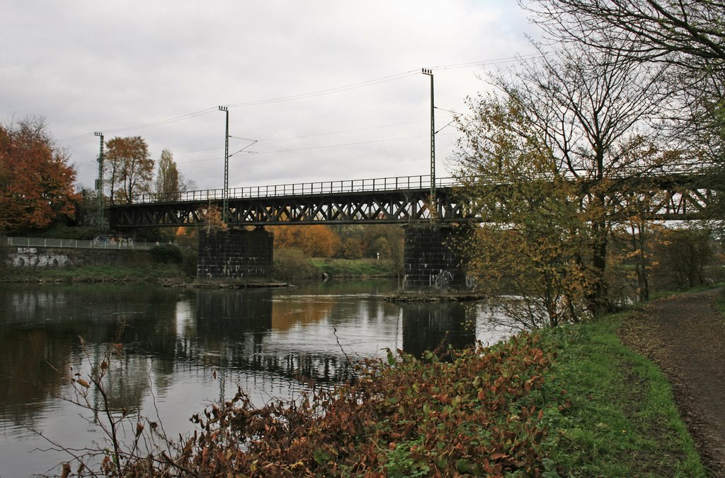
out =
{"type": "MultiPolygon", "coordinates": [[[[495,187],[495,186],[492,186],[495,187]]],[[[706,185],[704,177],[637,178],[624,182],[619,190],[608,194],[615,213],[639,211],[648,219],[700,219],[716,201],[721,201],[721,187],[706,185]]],[[[431,206],[429,190],[386,190],[363,193],[327,193],[310,196],[275,196],[269,198],[230,198],[230,225],[290,225],[350,223],[485,222],[476,204],[463,201],[452,188],[436,190],[436,204],[431,206]]],[[[112,227],[178,227],[204,224],[209,206],[223,206],[218,201],[183,201],[178,203],[117,204],[109,208],[112,227]]]]}

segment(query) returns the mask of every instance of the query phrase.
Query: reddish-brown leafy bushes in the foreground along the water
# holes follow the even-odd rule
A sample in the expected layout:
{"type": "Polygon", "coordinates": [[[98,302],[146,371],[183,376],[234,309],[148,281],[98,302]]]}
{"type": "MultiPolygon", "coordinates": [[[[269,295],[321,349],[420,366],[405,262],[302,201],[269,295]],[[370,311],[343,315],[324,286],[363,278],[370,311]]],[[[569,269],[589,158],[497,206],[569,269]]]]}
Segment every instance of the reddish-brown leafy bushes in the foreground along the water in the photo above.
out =
{"type": "MultiPolygon", "coordinates": [[[[494,349],[367,361],[352,385],[254,408],[241,390],[196,414],[178,454],[128,457],[124,474],[542,474],[544,374],[555,354],[521,335],[494,349]]],[[[123,460],[121,461],[123,463],[123,460]]],[[[111,466],[112,462],[106,462],[111,466]]],[[[105,471],[113,472],[112,468],[105,471]]]]}

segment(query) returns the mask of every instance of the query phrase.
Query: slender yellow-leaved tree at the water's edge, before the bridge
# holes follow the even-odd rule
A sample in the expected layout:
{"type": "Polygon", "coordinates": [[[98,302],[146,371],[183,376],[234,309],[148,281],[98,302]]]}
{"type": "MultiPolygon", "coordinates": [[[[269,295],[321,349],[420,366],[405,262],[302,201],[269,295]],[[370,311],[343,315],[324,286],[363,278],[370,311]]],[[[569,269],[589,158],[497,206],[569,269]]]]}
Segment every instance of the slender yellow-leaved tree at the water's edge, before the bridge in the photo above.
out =
{"type": "Polygon", "coordinates": [[[460,245],[469,274],[523,327],[581,319],[596,276],[581,261],[590,231],[576,184],[514,98],[482,98],[471,116],[457,175],[486,225],[460,245]]]}

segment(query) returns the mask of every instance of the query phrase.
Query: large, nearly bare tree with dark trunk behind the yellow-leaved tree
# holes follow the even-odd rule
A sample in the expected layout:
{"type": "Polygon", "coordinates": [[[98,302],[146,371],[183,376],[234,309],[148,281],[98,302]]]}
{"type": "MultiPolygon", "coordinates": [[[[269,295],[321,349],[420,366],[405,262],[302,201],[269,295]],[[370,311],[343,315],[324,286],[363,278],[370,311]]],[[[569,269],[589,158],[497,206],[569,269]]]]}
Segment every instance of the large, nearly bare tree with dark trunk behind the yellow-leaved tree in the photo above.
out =
{"type": "Polygon", "coordinates": [[[500,98],[472,101],[473,115],[461,125],[463,176],[480,177],[482,170],[497,172],[501,183],[531,180],[516,169],[497,168],[508,160],[512,144],[534,141],[539,155],[552,158],[544,163],[552,168],[549,175],[579,184],[576,204],[588,226],[588,251],[578,260],[590,275],[587,306],[593,314],[609,306],[608,241],[613,224],[626,217],[621,191],[632,177],[647,176],[660,165],[661,156],[631,154],[653,141],[643,135],[650,130],[646,120],[659,111],[660,72],[618,62],[610,51],[570,46],[495,77],[500,98]]]}

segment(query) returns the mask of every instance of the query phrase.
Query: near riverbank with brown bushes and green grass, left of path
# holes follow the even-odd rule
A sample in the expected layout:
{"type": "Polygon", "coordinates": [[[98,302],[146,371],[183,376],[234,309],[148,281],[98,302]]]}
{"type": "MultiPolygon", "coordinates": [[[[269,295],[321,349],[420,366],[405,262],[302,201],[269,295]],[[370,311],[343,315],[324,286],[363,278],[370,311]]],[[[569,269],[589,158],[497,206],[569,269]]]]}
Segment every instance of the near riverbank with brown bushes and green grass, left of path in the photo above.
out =
{"type": "MultiPolygon", "coordinates": [[[[637,314],[440,359],[391,353],[353,385],[294,406],[254,408],[240,392],[194,416],[199,433],[154,471],[704,477],[665,375],[618,337],[637,314]]],[[[131,461],[128,471],[149,464],[131,461]]]]}

